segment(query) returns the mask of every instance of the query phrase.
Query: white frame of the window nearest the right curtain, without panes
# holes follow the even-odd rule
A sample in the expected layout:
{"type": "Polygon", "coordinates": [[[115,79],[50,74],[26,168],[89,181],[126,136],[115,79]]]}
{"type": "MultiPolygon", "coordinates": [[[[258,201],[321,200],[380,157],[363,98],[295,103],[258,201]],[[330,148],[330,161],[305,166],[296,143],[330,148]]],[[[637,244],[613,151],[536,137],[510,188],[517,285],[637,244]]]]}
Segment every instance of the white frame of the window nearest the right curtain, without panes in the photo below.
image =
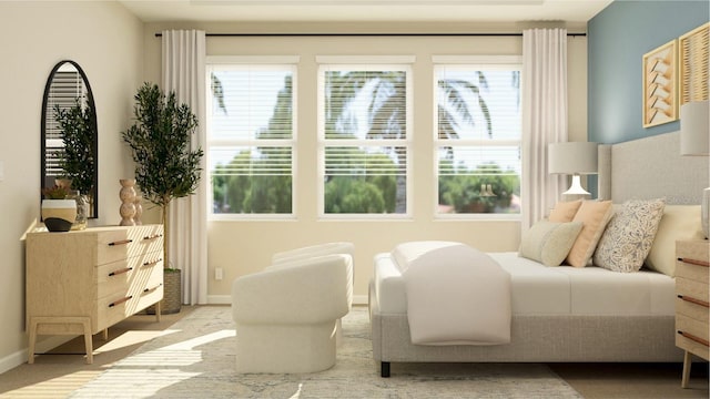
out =
{"type": "MultiPolygon", "coordinates": [[[[432,143],[432,156],[434,168],[434,207],[432,209],[434,219],[436,221],[521,221],[521,212],[517,214],[504,214],[504,213],[440,213],[438,196],[439,196],[439,149],[443,146],[460,146],[460,147],[477,147],[477,146],[517,146],[520,154],[520,185],[523,185],[523,167],[525,165],[523,160],[523,109],[525,102],[523,99],[523,57],[521,55],[433,55],[432,57],[432,83],[433,83],[433,143],[432,143]],[[520,73],[520,139],[519,140],[442,140],[438,137],[438,71],[442,68],[471,68],[471,71],[481,69],[501,69],[501,70],[518,70],[520,73]]],[[[520,202],[525,203],[523,192],[520,192],[520,202]]]]}

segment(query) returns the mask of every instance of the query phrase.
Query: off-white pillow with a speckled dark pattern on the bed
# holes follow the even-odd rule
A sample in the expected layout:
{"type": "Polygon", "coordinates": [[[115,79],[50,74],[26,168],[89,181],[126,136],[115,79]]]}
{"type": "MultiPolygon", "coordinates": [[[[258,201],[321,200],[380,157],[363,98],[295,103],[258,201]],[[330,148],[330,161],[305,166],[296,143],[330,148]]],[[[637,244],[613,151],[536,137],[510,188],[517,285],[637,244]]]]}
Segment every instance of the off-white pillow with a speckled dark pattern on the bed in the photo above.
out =
{"type": "Polygon", "coordinates": [[[663,200],[623,203],[599,239],[594,264],[613,272],[638,272],[651,250],[665,206],[663,200]]]}

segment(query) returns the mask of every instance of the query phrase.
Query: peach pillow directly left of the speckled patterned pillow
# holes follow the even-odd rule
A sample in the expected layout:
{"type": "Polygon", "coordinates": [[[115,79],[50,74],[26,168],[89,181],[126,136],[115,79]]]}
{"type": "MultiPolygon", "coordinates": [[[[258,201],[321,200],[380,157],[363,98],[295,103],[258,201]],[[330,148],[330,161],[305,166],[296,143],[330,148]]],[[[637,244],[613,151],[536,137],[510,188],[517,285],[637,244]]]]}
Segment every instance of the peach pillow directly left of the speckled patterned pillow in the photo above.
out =
{"type": "Polygon", "coordinates": [[[582,227],[567,255],[569,265],[587,266],[612,214],[611,201],[582,201],[572,219],[572,222],[581,222],[582,227]]]}

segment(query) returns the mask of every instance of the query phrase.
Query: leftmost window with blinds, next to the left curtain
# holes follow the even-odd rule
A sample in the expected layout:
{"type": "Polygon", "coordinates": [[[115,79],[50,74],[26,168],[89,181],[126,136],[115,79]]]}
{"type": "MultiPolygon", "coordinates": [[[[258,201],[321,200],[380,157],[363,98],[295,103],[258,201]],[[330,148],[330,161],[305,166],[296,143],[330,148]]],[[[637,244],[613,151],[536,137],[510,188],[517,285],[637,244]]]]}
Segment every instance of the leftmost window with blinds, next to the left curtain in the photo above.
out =
{"type": "Polygon", "coordinates": [[[294,64],[209,62],[207,163],[215,218],[293,214],[295,74],[294,64]]]}

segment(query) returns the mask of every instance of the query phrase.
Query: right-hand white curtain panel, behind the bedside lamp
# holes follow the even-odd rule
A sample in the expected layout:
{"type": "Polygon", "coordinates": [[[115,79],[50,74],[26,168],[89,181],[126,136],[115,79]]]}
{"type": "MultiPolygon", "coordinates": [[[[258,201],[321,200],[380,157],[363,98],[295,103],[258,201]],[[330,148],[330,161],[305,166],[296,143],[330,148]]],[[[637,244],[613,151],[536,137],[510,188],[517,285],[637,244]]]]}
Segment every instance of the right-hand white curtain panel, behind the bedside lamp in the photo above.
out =
{"type": "Polygon", "coordinates": [[[523,187],[521,231],[545,217],[565,187],[550,175],[547,145],[566,142],[567,30],[523,31],[523,187]]]}

